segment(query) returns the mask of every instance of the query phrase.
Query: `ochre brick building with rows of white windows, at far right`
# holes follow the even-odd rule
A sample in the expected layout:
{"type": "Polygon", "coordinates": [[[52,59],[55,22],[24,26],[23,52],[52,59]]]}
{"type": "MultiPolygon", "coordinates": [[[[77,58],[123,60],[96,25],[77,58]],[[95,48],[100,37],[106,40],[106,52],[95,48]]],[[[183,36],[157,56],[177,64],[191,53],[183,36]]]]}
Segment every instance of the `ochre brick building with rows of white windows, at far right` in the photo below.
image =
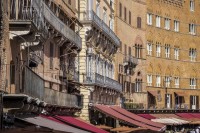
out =
{"type": "Polygon", "coordinates": [[[199,109],[199,4],[147,1],[148,108],[199,109]]]}

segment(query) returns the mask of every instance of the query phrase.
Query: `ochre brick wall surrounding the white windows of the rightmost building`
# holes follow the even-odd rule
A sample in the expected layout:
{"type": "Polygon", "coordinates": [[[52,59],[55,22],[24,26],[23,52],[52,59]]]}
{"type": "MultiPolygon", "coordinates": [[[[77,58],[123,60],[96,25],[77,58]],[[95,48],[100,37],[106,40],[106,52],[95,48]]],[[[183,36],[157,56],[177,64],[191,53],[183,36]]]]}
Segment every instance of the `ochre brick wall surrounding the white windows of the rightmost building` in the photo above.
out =
{"type": "MultiPolygon", "coordinates": [[[[200,55],[200,11],[199,1],[195,1],[194,11],[190,11],[190,1],[177,3],[154,0],[147,1],[147,13],[152,14],[152,25],[146,28],[147,42],[152,43],[152,55],[147,55],[147,74],[152,74],[152,86],[147,90],[161,91],[161,101],[157,101],[158,108],[165,108],[165,94],[172,95],[172,105],[175,107],[175,92],[184,92],[184,102],[190,106],[190,96],[200,96],[199,90],[199,63],[200,55]],[[161,27],[156,27],[156,15],[161,16],[161,27]],[[166,30],[165,18],[170,19],[170,29],[166,30]],[[174,31],[174,20],[179,21],[179,31],[174,31]],[[189,33],[189,24],[196,24],[196,35],[189,33]],[[156,57],[156,44],[161,45],[161,56],[156,57]],[[166,59],[165,45],[170,45],[170,56],[166,59]],[[175,58],[175,48],[179,49],[179,58],[175,58]],[[196,61],[189,57],[190,48],[196,49],[196,61]],[[161,76],[161,87],[156,87],[156,75],[161,76]],[[165,87],[165,76],[171,76],[170,87],[165,87]],[[175,77],[179,77],[179,87],[175,86],[175,77]],[[196,79],[196,89],[190,89],[190,78],[196,79]]],[[[199,100],[199,99],[198,99],[199,100]]],[[[197,101],[199,103],[199,101],[197,101]]]]}

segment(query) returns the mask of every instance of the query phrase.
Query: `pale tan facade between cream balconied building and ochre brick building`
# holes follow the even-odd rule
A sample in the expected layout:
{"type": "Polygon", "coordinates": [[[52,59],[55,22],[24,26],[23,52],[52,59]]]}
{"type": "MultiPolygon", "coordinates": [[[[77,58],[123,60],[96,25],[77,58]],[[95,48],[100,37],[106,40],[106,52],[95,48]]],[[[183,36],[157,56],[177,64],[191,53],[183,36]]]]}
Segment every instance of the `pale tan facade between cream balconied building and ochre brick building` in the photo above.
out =
{"type": "Polygon", "coordinates": [[[143,108],[146,93],[146,2],[115,1],[115,32],[122,45],[117,52],[115,77],[123,85],[125,108],[143,108]]]}

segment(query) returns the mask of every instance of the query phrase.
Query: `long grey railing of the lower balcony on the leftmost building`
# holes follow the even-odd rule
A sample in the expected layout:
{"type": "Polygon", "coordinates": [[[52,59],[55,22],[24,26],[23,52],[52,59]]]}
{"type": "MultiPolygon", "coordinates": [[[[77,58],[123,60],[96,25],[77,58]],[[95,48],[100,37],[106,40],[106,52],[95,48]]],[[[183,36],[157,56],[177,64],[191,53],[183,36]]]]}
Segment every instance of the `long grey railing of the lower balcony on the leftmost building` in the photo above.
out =
{"type": "Polygon", "coordinates": [[[44,79],[26,67],[23,93],[38,98],[48,104],[67,107],[79,107],[81,105],[77,95],[45,88],[44,82],[44,79]]]}

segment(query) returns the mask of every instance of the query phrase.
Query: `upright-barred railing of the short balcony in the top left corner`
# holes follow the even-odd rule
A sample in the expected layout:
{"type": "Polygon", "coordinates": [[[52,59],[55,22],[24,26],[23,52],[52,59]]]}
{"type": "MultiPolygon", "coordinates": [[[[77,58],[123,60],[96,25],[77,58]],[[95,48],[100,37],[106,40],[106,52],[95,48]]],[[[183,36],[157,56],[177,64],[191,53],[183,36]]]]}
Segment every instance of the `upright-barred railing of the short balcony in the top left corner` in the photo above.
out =
{"type": "Polygon", "coordinates": [[[48,37],[48,27],[45,24],[44,16],[41,13],[41,4],[37,3],[35,0],[10,1],[10,22],[32,22],[37,28],[38,32],[42,34],[43,37],[48,37]]]}

